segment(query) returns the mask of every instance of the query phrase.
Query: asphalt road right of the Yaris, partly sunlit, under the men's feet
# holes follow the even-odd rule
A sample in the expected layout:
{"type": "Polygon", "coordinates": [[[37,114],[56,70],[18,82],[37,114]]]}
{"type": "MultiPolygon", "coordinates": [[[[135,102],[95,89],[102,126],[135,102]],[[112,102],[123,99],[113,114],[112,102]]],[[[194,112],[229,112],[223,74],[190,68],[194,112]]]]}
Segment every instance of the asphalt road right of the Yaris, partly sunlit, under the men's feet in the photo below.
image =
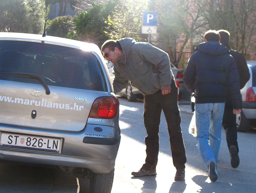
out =
{"type": "MultiPolygon", "coordinates": [[[[176,169],[173,167],[167,125],[162,114],[160,124],[160,152],[158,156],[157,176],[135,178],[132,171],[140,169],[145,163],[146,136],[143,123],[143,103],[128,102],[120,98],[121,144],[116,160],[116,170],[112,193],[248,193],[256,192],[255,140],[256,131],[238,133],[240,165],[234,169],[230,165],[230,155],[226,145],[225,131],[222,130],[222,142],[217,163],[219,174],[216,182],[208,178],[207,167],[197,149],[197,141],[189,134],[192,118],[189,105],[180,105],[182,131],[186,147],[187,163],[185,181],[174,181],[176,169]],[[185,111],[185,112],[184,112],[185,111]]],[[[182,103],[181,103],[182,104],[182,103]]]]}

